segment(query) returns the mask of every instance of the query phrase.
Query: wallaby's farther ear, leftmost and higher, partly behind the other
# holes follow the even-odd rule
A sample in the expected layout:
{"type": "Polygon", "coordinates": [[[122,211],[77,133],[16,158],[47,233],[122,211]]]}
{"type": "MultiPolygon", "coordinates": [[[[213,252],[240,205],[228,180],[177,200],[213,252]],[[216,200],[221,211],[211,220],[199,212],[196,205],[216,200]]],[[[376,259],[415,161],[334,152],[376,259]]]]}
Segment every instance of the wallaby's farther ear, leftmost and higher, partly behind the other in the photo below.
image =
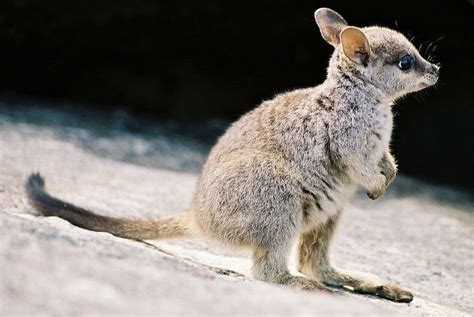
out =
{"type": "Polygon", "coordinates": [[[323,38],[332,46],[339,44],[339,35],[347,27],[347,22],[336,11],[320,8],[314,12],[314,19],[323,38]]]}

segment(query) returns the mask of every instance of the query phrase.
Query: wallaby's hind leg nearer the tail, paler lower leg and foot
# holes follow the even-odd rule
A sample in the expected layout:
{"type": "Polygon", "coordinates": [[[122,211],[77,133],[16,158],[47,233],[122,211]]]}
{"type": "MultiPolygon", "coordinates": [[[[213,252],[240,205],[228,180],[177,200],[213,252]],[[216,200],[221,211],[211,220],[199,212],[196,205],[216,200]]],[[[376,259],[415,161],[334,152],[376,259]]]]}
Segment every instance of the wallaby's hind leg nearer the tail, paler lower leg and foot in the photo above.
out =
{"type": "Polygon", "coordinates": [[[287,267],[289,250],[284,247],[253,250],[252,273],[254,278],[302,290],[329,290],[319,281],[303,276],[291,275],[287,267]]]}

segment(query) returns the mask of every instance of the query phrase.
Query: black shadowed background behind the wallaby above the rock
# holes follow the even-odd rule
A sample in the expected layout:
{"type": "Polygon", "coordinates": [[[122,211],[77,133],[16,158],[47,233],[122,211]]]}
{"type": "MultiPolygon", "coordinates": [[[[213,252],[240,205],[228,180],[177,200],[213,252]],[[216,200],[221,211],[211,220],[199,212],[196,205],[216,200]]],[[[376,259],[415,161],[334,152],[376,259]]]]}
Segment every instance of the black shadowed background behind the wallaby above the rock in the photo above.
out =
{"type": "Polygon", "coordinates": [[[398,28],[417,46],[443,37],[440,82],[398,102],[393,148],[402,172],[474,190],[472,0],[2,0],[0,93],[232,120],[324,80],[321,6],[356,26],[398,28]]]}

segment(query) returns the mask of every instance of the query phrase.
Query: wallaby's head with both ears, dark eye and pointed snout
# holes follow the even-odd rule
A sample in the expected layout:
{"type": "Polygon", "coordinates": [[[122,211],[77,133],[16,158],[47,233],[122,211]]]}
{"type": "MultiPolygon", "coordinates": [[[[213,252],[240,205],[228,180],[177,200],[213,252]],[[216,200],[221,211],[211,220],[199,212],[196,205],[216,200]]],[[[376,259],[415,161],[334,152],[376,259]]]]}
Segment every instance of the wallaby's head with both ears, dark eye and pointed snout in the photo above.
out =
{"type": "Polygon", "coordinates": [[[316,10],[314,17],[323,38],[335,48],[329,76],[352,74],[391,100],[437,82],[439,66],[424,59],[402,34],[378,26],[349,26],[328,8],[316,10]]]}

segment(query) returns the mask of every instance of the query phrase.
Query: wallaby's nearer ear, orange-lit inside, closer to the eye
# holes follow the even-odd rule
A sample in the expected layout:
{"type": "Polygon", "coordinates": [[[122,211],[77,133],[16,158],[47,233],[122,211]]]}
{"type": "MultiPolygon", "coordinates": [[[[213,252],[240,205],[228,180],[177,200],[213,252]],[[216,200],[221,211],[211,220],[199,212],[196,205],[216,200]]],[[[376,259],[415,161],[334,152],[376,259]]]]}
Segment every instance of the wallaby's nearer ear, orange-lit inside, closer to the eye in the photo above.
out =
{"type": "Polygon", "coordinates": [[[366,65],[370,57],[370,45],[364,32],[349,26],[342,30],[340,37],[344,54],[353,62],[366,65]]]}

